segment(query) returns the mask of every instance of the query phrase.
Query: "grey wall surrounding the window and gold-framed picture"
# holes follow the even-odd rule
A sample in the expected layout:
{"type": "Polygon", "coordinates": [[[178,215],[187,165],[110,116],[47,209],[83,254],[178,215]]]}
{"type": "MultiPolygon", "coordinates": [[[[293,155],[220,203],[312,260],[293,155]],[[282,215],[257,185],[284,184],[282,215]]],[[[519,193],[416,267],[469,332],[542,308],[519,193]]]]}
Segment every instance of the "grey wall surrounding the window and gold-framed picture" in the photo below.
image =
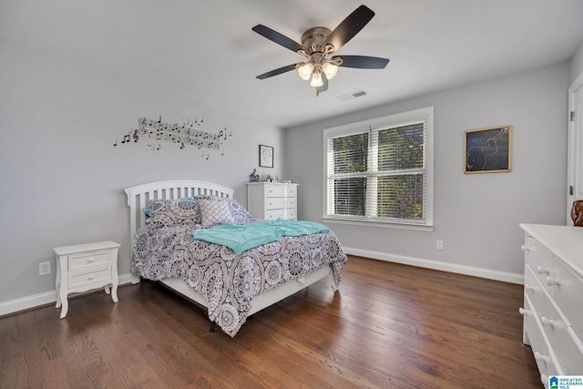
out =
{"type": "Polygon", "coordinates": [[[286,166],[299,178],[299,218],[322,222],[323,128],[434,106],[435,229],[328,225],[349,251],[520,282],[518,223],[565,222],[567,89],[568,63],[561,63],[291,128],[286,166]],[[464,174],[464,131],[506,124],[513,126],[512,171],[464,174]],[[436,240],[444,251],[435,250],[436,240]]]}

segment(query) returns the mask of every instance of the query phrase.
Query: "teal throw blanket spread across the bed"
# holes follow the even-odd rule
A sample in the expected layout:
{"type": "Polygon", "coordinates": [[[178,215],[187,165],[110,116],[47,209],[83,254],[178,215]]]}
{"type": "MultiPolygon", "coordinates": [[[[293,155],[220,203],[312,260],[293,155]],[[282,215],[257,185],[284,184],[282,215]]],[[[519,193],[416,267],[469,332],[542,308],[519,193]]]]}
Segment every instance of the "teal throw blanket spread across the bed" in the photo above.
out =
{"type": "Polygon", "coordinates": [[[313,221],[278,219],[244,226],[224,223],[219,227],[196,230],[190,234],[190,238],[227,246],[240,255],[241,252],[262,244],[279,241],[282,236],[312,235],[328,230],[328,227],[313,221]]]}

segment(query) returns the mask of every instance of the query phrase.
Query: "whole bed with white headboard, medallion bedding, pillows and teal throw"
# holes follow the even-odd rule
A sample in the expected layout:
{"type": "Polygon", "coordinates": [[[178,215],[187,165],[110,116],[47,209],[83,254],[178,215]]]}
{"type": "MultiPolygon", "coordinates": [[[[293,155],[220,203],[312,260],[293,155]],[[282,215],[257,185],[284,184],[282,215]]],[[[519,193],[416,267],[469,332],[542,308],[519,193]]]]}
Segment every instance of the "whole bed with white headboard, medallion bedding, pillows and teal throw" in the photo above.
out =
{"type": "Polygon", "coordinates": [[[232,189],[208,182],[162,181],[125,191],[134,282],[158,281],[197,302],[230,336],[251,314],[313,282],[325,279],[338,289],[347,258],[321,224],[254,219],[232,200],[232,189]]]}

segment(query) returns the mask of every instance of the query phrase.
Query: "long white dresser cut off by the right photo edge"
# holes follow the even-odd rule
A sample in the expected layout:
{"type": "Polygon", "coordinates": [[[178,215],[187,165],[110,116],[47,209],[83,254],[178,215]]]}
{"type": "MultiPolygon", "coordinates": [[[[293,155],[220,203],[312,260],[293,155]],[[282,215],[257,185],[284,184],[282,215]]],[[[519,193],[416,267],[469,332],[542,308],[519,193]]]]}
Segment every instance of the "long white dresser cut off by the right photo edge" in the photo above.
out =
{"type": "Polygon", "coordinates": [[[520,224],[525,230],[523,342],[541,382],[583,374],[583,227],[520,224]]]}

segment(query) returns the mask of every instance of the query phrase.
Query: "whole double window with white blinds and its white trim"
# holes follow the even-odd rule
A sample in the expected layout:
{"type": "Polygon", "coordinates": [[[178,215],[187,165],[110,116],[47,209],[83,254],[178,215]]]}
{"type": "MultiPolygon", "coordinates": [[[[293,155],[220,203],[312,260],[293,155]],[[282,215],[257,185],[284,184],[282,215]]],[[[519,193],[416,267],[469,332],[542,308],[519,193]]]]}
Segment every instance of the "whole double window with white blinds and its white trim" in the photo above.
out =
{"type": "Polygon", "coordinates": [[[433,226],[433,111],[324,130],[324,218],[433,226]]]}

